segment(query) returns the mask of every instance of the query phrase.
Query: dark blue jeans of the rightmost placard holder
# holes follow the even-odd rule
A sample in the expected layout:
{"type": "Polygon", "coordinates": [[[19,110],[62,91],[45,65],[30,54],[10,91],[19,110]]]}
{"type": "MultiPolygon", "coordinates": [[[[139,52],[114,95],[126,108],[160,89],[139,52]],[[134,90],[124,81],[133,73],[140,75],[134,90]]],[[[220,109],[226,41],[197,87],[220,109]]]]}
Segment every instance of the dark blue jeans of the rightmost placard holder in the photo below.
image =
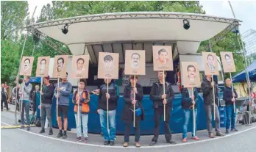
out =
{"type": "Polygon", "coordinates": [[[234,105],[226,105],[227,112],[227,122],[226,122],[226,130],[230,130],[230,121],[231,121],[231,129],[235,129],[235,115],[234,105]]]}

